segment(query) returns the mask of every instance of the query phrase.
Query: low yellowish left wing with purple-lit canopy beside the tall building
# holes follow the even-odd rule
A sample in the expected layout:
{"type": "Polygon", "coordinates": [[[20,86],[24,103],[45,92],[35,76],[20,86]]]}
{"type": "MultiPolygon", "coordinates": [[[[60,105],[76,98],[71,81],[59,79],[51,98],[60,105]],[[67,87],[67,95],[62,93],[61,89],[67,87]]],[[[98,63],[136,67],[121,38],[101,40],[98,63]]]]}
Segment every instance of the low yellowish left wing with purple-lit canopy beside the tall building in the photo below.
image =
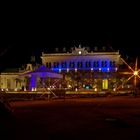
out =
{"type": "Polygon", "coordinates": [[[44,85],[45,79],[53,79],[54,81],[62,77],[61,74],[47,71],[44,66],[36,68],[32,64],[27,64],[25,69],[2,72],[0,75],[0,88],[6,91],[36,91],[37,89],[44,91],[46,88],[44,85]]]}

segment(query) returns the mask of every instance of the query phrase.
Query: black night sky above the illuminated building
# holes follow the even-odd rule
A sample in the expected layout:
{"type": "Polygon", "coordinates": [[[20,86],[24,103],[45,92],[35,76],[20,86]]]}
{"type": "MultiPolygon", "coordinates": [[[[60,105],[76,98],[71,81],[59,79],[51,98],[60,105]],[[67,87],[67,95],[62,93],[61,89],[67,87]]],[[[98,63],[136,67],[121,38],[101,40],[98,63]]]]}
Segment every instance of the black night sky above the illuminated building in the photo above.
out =
{"type": "MultiPolygon", "coordinates": [[[[92,7],[93,8],[93,7],[92,7]]],[[[110,8],[110,7],[109,7],[110,8]]],[[[67,8],[65,8],[66,11],[67,8]]],[[[122,55],[140,56],[138,18],[128,13],[117,16],[112,9],[70,8],[70,12],[24,11],[11,13],[2,20],[0,70],[19,67],[41,51],[82,46],[112,46],[122,55]],[[87,11],[86,11],[87,10],[87,11]],[[76,12],[75,12],[76,11],[76,12]],[[85,12],[86,11],[86,12],[85,12]],[[99,13],[100,12],[100,13],[99,13]],[[19,14],[17,14],[19,13],[19,14]]]]}

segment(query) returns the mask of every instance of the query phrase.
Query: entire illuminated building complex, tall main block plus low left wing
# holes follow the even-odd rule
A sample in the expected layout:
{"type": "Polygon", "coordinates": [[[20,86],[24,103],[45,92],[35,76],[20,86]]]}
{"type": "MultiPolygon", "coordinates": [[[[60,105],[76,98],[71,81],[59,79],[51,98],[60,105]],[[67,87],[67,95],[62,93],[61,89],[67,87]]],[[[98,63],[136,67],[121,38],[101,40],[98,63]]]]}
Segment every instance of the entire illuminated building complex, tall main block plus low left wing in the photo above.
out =
{"type": "Polygon", "coordinates": [[[113,90],[120,82],[118,70],[122,64],[119,51],[89,51],[74,47],[71,52],[44,53],[42,64],[28,64],[17,72],[2,72],[1,89],[42,90],[113,90]]]}

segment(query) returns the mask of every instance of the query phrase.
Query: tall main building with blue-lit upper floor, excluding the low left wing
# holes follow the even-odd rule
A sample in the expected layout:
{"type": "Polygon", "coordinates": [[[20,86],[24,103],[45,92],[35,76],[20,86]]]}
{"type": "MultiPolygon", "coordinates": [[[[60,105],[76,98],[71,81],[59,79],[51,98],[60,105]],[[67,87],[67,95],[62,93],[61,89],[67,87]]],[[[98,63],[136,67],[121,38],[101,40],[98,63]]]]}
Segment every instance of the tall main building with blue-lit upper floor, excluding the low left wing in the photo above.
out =
{"type": "Polygon", "coordinates": [[[119,51],[88,51],[75,47],[67,53],[42,53],[42,64],[48,70],[63,74],[66,88],[108,90],[119,69],[119,51]]]}

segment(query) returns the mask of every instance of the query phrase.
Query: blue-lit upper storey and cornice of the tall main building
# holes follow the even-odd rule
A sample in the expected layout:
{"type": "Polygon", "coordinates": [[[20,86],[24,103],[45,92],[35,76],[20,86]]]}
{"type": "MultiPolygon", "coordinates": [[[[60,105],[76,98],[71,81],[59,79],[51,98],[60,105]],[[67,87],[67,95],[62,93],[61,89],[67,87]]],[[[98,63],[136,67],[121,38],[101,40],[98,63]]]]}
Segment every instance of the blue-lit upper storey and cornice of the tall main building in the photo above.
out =
{"type": "Polygon", "coordinates": [[[108,70],[118,69],[120,54],[117,52],[88,52],[85,48],[74,48],[71,53],[42,53],[42,64],[56,70],[108,70]],[[73,66],[72,66],[73,65],[73,66]]]}

